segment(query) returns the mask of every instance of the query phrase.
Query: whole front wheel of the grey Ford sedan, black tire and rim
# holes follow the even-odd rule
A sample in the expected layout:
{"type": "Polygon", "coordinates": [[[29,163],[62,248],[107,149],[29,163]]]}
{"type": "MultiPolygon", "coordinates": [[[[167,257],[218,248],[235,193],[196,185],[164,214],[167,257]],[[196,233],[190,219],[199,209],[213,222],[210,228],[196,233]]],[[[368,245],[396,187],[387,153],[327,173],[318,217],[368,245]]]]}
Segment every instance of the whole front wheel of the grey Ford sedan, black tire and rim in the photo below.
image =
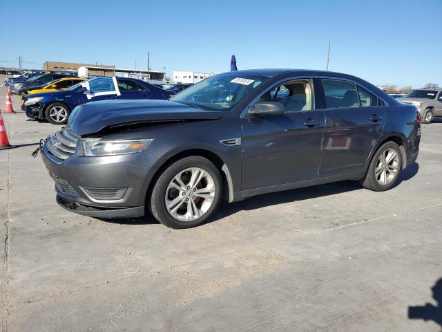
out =
{"type": "Polygon", "coordinates": [[[206,158],[189,156],[177,160],[162,172],[146,205],[157,221],[170,228],[182,229],[192,228],[207,221],[218,209],[221,198],[222,179],[215,165],[206,158]],[[198,169],[204,172],[198,173],[198,169]],[[191,183],[193,176],[202,178],[197,183],[191,183]],[[179,182],[176,178],[181,180],[181,185],[177,185],[179,182]],[[209,192],[210,194],[204,194],[209,192]],[[174,204],[175,201],[177,203],[174,204]]]}

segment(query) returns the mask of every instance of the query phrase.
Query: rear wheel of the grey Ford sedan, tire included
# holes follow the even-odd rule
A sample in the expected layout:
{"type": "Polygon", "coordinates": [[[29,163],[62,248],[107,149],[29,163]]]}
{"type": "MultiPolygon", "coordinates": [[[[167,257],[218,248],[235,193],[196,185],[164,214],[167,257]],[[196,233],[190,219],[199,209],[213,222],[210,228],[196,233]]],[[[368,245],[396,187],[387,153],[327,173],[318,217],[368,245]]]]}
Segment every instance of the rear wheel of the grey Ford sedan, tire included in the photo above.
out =
{"type": "Polygon", "coordinates": [[[365,174],[364,178],[361,178],[360,183],[365,189],[373,190],[374,192],[383,192],[391,189],[402,170],[402,153],[401,149],[395,142],[386,142],[383,144],[374,154],[372,161],[365,174]],[[394,156],[393,151],[396,153],[394,156]],[[381,157],[381,155],[383,157],[381,157]],[[385,158],[385,156],[387,158],[385,158]],[[388,162],[389,156],[392,156],[392,161],[388,162]],[[385,158],[386,163],[382,165],[382,158],[385,158]],[[396,172],[394,172],[396,171],[396,172]],[[383,181],[385,179],[385,181],[383,181]]]}

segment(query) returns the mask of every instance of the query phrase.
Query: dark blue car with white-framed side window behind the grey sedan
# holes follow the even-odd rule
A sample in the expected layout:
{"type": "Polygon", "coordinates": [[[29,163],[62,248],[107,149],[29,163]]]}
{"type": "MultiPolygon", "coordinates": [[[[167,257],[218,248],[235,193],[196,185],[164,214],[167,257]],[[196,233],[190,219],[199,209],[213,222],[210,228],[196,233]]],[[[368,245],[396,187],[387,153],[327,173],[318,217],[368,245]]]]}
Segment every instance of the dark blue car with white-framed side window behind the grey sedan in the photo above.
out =
{"type": "Polygon", "coordinates": [[[24,111],[31,120],[66,124],[73,109],[86,102],[112,99],[166,100],[174,94],[174,91],[160,89],[135,78],[96,77],[63,91],[26,95],[24,111]]]}

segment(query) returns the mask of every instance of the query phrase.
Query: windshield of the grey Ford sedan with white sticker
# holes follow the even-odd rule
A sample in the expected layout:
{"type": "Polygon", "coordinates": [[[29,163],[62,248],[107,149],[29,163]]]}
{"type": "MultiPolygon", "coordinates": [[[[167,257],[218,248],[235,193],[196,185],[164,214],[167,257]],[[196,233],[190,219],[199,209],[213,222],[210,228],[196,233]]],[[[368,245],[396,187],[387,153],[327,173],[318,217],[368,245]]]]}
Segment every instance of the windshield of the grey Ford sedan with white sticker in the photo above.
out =
{"type": "Polygon", "coordinates": [[[229,111],[266,78],[259,75],[235,75],[234,73],[215,75],[189,86],[171,100],[202,109],[229,111]]]}

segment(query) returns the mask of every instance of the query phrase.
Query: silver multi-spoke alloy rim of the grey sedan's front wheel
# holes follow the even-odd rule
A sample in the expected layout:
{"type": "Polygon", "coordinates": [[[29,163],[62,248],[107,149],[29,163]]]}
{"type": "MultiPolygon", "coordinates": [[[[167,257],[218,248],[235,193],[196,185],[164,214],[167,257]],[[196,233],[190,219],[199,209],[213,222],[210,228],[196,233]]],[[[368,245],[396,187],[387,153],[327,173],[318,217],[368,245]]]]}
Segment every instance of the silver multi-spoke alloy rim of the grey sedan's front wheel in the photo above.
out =
{"type": "Polygon", "coordinates": [[[200,167],[176,174],[166,189],[164,201],[169,214],[179,221],[195,221],[206,213],[215,199],[215,182],[200,167]]]}

